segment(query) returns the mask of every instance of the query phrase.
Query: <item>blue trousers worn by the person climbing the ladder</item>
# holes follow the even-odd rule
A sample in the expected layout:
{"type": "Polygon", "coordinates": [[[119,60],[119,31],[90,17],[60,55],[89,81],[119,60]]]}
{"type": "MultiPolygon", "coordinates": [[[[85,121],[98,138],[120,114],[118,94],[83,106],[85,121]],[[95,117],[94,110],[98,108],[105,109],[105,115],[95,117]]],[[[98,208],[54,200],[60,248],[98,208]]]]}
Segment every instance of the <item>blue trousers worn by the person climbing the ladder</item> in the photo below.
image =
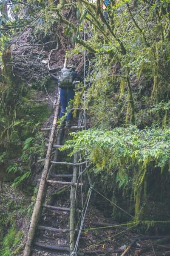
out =
{"type": "MultiPolygon", "coordinates": [[[[61,100],[61,106],[62,106],[61,112],[60,112],[60,117],[62,117],[64,115],[66,107],[68,107],[68,102],[71,99],[74,99],[74,95],[75,95],[75,92],[72,87],[68,88],[68,89],[60,88],[60,100],[61,100]]],[[[72,114],[72,111],[70,111],[70,113],[68,113],[67,119],[71,119],[71,114],[72,114]]]]}

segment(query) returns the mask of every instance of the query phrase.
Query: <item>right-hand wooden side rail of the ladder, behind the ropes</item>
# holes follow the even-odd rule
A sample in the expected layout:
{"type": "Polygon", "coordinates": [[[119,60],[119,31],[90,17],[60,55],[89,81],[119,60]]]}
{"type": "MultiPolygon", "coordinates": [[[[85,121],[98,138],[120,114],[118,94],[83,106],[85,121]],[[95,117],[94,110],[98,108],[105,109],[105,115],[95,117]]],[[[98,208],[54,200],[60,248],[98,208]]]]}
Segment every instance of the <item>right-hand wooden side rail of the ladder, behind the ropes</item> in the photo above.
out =
{"type": "MultiPolygon", "coordinates": [[[[79,122],[78,126],[81,125],[82,120],[82,112],[79,112],[79,122]]],[[[74,163],[78,161],[78,153],[74,153],[74,163]]],[[[78,174],[78,166],[74,166],[73,168],[73,179],[72,182],[77,182],[77,174],[78,174]]],[[[74,250],[75,241],[74,241],[74,230],[75,230],[75,212],[76,212],[76,197],[75,197],[76,187],[71,186],[71,193],[70,193],[70,254],[74,250]]]]}

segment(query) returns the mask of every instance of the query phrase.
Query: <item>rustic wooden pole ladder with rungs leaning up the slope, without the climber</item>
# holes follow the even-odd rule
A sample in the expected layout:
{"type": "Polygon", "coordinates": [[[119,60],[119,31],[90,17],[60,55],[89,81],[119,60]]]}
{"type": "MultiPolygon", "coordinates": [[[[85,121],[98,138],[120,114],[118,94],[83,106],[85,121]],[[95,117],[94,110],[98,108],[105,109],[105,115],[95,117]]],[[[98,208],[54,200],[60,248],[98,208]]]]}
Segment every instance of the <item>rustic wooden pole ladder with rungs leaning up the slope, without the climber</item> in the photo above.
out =
{"type": "MultiPolygon", "coordinates": [[[[65,59],[64,68],[65,67],[66,67],[66,59],[65,59]]],[[[71,243],[70,243],[70,253],[74,250],[74,231],[75,231],[74,217],[75,217],[75,202],[76,202],[75,192],[76,192],[76,187],[77,186],[82,186],[82,183],[77,184],[77,173],[78,173],[78,166],[83,165],[86,162],[77,163],[77,161],[78,161],[78,154],[77,153],[74,154],[74,163],[57,162],[57,154],[56,153],[54,155],[54,161],[51,161],[52,148],[62,147],[61,145],[53,144],[56,128],[57,129],[63,129],[63,128],[57,127],[57,117],[58,117],[58,114],[59,114],[59,106],[60,106],[60,96],[59,96],[59,91],[58,91],[57,104],[56,104],[56,108],[55,108],[55,111],[54,111],[53,125],[52,125],[51,128],[46,128],[45,129],[47,131],[48,130],[51,131],[50,139],[49,139],[49,142],[47,144],[47,146],[48,146],[47,154],[46,154],[45,159],[42,159],[42,160],[38,161],[38,162],[45,161],[45,164],[44,164],[44,169],[43,169],[43,172],[42,172],[41,179],[39,180],[40,181],[39,190],[38,190],[38,193],[37,193],[37,199],[36,199],[34,210],[33,210],[32,217],[31,217],[31,223],[30,223],[30,227],[29,227],[29,230],[28,230],[28,239],[27,239],[27,242],[26,242],[26,247],[25,247],[23,256],[30,256],[30,254],[31,254],[31,247],[33,245],[33,240],[34,240],[36,229],[49,230],[49,231],[59,232],[59,233],[68,233],[69,232],[70,233],[70,241],[71,241],[71,243]],[[72,181],[71,182],[61,182],[61,181],[49,180],[50,173],[51,173],[51,170],[50,170],[51,167],[49,168],[50,164],[52,164],[51,165],[52,168],[55,164],[64,164],[64,165],[73,166],[73,175],[71,175],[71,176],[69,175],[69,177],[72,177],[72,181]],[[51,184],[51,183],[53,183],[53,184],[54,183],[55,184],[62,184],[62,185],[71,185],[71,193],[70,193],[71,207],[70,208],[54,207],[54,206],[51,206],[51,205],[44,204],[48,184],[51,184]],[[44,227],[44,226],[38,225],[38,222],[39,222],[40,217],[42,215],[42,208],[48,208],[48,209],[55,209],[55,210],[59,210],[59,211],[68,211],[68,212],[70,212],[70,228],[65,229],[65,230],[61,230],[61,229],[57,229],[57,228],[53,228],[53,227],[44,227]]],[[[82,111],[79,111],[78,126],[69,127],[69,129],[84,128],[84,126],[81,126],[81,119],[82,119],[82,111]]],[[[42,130],[44,130],[44,129],[42,129],[42,130]]],[[[59,130],[59,131],[61,131],[60,134],[59,134],[59,139],[60,139],[61,134],[62,134],[62,130],[59,130]]],[[[59,139],[57,141],[57,144],[59,143],[59,139]]],[[[56,177],[57,177],[57,175],[56,175],[56,177]]],[[[66,177],[66,176],[65,175],[59,175],[58,177],[66,177]]],[[[35,243],[35,245],[38,245],[38,243],[35,243]]],[[[56,250],[57,250],[57,247],[56,247],[56,250]]],[[[61,247],[59,248],[59,250],[61,250],[61,247]]],[[[65,250],[65,251],[68,251],[68,249],[65,250]]]]}

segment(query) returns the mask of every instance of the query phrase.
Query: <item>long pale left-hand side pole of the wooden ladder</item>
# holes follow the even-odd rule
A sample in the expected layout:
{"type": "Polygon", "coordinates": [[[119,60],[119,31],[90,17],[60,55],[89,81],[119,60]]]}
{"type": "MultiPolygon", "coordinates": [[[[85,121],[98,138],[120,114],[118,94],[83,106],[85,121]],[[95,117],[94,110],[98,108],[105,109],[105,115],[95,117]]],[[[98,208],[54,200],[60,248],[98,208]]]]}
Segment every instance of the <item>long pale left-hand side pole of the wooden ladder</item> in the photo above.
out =
{"type": "MultiPolygon", "coordinates": [[[[65,66],[66,66],[66,59],[65,59],[64,67],[65,66]]],[[[30,227],[29,227],[29,231],[28,231],[28,239],[26,242],[26,247],[24,249],[23,256],[30,256],[31,246],[32,246],[32,243],[34,240],[35,230],[36,230],[38,219],[39,219],[39,214],[40,214],[40,209],[41,209],[41,204],[42,204],[42,197],[43,197],[43,192],[45,189],[45,181],[46,181],[46,178],[48,175],[48,169],[49,169],[50,160],[51,160],[51,149],[52,149],[52,145],[54,142],[57,116],[59,113],[59,106],[60,106],[60,94],[59,93],[60,93],[60,90],[58,90],[57,106],[56,106],[56,110],[55,110],[55,114],[54,114],[53,125],[51,128],[51,135],[50,135],[50,140],[48,143],[45,165],[44,165],[44,169],[43,169],[42,176],[41,176],[37,199],[36,199],[34,210],[33,210],[32,217],[31,217],[31,223],[30,223],[30,227]]]]}

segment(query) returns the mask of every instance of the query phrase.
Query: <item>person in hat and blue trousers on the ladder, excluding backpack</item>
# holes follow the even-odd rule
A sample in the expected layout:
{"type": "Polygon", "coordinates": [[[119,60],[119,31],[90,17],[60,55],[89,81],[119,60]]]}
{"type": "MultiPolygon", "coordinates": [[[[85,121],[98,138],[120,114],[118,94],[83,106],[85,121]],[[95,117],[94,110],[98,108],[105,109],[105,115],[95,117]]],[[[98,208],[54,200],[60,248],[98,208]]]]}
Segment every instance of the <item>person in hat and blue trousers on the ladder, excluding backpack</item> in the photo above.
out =
{"type": "MultiPolygon", "coordinates": [[[[77,72],[72,71],[72,70],[75,70],[73,65],[68,65],[67,69],[68,68],[71,68],[72,80],[73,81],[75,81],[75,80],[82,81],[82,82],[84,81],[82,79],[82,77],[79,76],[79,74],[77,74],[77,72]]],[[[61,87],[60,86],[60,100],[61,100],[61,105],[62,105],[61,112],[60,112],[60,117],[64,116],[66,108],[68,107],[68,103],[69,103],[70,100],[74,99],[74,95],[75,95],[74,84],[72,86],[69,86],[69,87],[61,87]]],[[[66,116],[66,126],[68,126],[68,127],[70,127],[72,125],[71,124],[71,115],[72,115],[72,111],[70,111],[66,116]]],[[[62,120],[62,122],[60,124],[60,127],[64,127],[64,126],[65,126],[65,120],[62,120]]]]}

